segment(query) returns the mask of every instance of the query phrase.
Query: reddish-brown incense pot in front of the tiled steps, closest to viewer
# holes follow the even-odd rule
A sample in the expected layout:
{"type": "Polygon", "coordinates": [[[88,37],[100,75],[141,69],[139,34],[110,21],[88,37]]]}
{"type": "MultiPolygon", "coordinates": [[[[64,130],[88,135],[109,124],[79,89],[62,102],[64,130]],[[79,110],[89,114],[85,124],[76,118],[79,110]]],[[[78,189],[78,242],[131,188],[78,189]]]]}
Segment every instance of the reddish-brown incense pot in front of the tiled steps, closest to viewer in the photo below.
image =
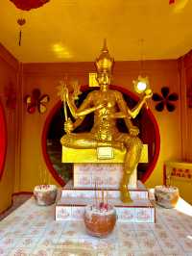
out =
{"type": "Polygon", "coordinates": [[[84,225],[89,235],[107,237],[116,223],[116,211],[111,205],[87,205],[84,209],[84,225]]]}

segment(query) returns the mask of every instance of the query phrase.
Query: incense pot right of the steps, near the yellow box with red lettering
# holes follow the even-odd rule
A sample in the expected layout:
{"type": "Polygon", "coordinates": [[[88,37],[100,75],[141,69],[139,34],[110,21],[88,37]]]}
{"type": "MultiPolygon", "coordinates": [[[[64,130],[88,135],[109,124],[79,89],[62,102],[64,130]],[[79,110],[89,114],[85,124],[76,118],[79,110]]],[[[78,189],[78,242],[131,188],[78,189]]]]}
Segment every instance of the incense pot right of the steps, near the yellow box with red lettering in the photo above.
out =
{"type": "Polygon", "coordinates": [[[164,208],[174,208],[180,198],[179,189],[176,187],[156,186],[156,204],[164,208]]]}

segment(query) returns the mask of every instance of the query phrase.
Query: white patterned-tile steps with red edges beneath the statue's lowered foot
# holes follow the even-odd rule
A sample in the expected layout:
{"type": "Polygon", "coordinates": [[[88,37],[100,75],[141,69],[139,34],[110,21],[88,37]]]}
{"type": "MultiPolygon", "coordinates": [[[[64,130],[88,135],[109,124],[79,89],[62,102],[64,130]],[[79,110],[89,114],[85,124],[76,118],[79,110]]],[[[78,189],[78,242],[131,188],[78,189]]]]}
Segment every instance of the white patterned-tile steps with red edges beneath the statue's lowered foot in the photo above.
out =
{"type": "MultiPolygon", "coordinates": [[[[155,222],[155,207],[149,200],[149,193],[141,182],[137,183],[135,189],[130,190],[132,203],[129,204],[125,204],[119,199],[120,192],[118,190],[108,190],[104,193],[105,200],[115,206],[118,221],[155,222]]],[[[60,199],[56,205],[56,220],[82,220],[84,218],[84,206],[101,201],[102,190],[77,189],[69,183],[60,192],[60,199]],[[95,198],[97,198],[97,202],[95,198]]]]}

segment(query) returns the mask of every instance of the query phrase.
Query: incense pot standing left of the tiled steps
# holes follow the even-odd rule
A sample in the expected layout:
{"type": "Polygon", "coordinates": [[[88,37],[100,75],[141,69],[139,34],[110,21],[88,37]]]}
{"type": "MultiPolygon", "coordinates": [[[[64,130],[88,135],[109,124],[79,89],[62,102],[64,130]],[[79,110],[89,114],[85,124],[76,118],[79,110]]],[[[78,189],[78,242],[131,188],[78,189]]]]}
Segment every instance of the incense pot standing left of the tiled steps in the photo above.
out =
{"type": "Polygon", "coordinates": [[[56,201],[58,189],[55,185],[38,185],[34,189],[34,197],[38,205],[51,205],[56,201]]]}

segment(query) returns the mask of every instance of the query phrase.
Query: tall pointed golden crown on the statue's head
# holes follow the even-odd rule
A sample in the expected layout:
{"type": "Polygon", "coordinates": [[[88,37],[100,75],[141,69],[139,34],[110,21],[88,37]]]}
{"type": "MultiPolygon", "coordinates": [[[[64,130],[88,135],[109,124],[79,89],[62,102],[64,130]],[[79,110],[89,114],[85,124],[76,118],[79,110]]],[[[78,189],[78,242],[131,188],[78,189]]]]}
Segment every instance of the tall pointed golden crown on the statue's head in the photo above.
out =
{"type": "Polygon", "coordinates": [[[110,73],[113,63],[114,63],[114,59],[111,58],[108,53],[107,42],[105,39],[102,52],[101,52],[99,58],[97,58],[96,62],[95,62],[97,71],[99,73],[101,73],[101,72],[109,72],[110,73]]]}

